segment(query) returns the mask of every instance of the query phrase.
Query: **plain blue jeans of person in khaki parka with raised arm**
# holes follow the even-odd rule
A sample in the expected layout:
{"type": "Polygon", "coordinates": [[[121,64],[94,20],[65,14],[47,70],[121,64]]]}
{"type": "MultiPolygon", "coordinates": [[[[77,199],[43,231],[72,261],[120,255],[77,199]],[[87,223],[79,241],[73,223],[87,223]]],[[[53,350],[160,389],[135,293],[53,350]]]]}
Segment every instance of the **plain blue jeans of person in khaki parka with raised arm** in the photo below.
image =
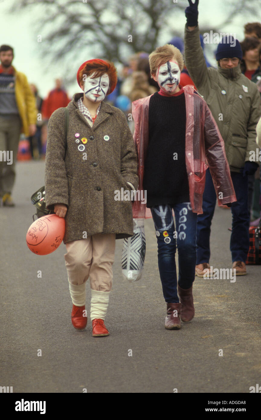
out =
{"type": "MultiPolygon", "coordinates": [[[[248,177],[242,173],[230,173],[236,202],[232,203],[232,234],[230,251],[232,262],[245,262],[249,249],[248,177]]],[[[217,196],[209,169],[206,171],[206,185],[203,194],[203,214],[198,215],[197,223],[197,264],[209,262],[210,226],[214,215],[217,196]]]]}

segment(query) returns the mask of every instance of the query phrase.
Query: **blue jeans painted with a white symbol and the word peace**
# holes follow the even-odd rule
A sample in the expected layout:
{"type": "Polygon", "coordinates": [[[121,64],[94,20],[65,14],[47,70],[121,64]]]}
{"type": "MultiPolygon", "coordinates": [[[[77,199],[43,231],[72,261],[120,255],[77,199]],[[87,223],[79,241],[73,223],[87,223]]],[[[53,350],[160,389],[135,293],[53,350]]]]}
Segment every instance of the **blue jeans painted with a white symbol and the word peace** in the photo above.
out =
{"type": "Polygon", "coordinates": [[[175,262],[176,239],[178,249],[178,284],[189,289],[195,279],[197,214],[190,203],[173,206],[176,231],[169,204],[151,207],[158,241],[158,265],[163,296],[168,303],[178,303],[177,270],[175,262]]]}

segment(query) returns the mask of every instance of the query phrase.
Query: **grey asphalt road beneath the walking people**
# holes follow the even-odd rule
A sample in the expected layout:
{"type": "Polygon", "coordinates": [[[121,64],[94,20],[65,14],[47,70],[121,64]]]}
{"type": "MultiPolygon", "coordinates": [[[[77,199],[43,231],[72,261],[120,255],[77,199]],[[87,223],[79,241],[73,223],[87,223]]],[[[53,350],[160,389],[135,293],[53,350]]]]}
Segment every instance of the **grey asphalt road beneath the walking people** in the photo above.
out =
{"type": "MultiPolygon", "coordinates": [[[[0,386],[21,393],[82,393],[84,388],[90,393],[172,393],[174,388],[178,393],[249,393],[250,386],[261,384],[261,266],[248,266],[248,274],[235,283],[196,278],[195,318],[179,331],[167,331],[157,240],[148,219],[141,280],[123,280],[122,240],[116,241],[106,319],[110,336],[94,338],[89,320],[85,331],[76,331],[70,321],[65,245],[47,256],[34,255],[26,245],[34,213],[30,197],[43,184],[43,161],[18,163],[16,207],[0,207],[0,386]]],[[[230,226],[230,210],[217,208],[211,233],[214,267],[232,267],[230,226]]],[[[88,312],[89,305],[87,285],[88,312]]]]}

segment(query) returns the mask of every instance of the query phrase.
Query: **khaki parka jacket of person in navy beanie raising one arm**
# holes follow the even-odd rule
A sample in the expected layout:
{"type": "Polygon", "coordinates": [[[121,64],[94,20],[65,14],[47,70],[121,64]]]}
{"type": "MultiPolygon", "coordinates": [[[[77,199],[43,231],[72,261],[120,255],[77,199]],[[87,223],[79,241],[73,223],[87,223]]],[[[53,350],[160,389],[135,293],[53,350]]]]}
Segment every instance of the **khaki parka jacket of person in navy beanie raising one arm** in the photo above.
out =
{"type": "Polygon", "coordinates": [[[185,26],[185,63],[224,139],[230,171],[240,172],[257,147],[261,100],[256,84],[241,73],[240,64],[231,69],[207,67],[198,26],[193,31],[185,26]]]}

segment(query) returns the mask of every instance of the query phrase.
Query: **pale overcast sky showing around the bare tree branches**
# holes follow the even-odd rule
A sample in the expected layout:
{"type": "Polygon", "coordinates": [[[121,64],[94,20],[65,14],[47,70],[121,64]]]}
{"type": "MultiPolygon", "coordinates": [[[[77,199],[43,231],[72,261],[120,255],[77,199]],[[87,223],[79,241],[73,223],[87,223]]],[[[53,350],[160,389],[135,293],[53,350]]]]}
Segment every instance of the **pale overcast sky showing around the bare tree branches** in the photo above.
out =
{"type": "MultiPolygon", "coordinates": [[[[106,0],[97,1],[103,1],[106,7],[106,0]]],[[[41,13],[44,13],[44,9],[37,5],[18,15],[14,13],[8,14],[7,8],[10,7],[12,2],[13,0],[0,0],[0,44],[8,44],[14,48],[15,58],[13,65],[18,71],[25,73],[29,82],[36,84],[39,89],[39,94],[45,97],[48,91],[54,87],[54,79],[63,76],[63,69],[56,63],[51,63],[47,71],[43,71],[42,68],[42,57],[39,54],[42,44],[41,42],[37,42],[37,37],[35,36],[35,21],[41,16],[41,13]]],[[[184,5],[188,4],[187,0],[179,0],[179,2],[184,3],[184,5]]],[[[118,3],[120,4],[120,0],[118,0],[118,3]]],[[[132,3],[134,5],[135,0],[132,0],[132,3]]],[[[211,19],[215,20],[213,24],[222,21],[224,13],[227,10],[227,3],[228,0],[200,0],[199,24],[209,23],[211,19]]],[[[182,18],[182,15],[179,16],[180,18],[177,21],[170,23],[170,28],[175,24],[175,27],[183,31],[185,15],[184,18],[182,18]]],[[[256,17],[255,20],[258,20],[258,18],[256,17]]],[[[236,37],[241,41],[243,39],[243,26],[248,21],[253,21],[253,18],[249,18],[245,14],[244,16],[238,16],[232,25],[222,28],[222,31],[235,32],[236,37]]],[[[164,44],[170,40],[170,28],[166,29],[166,38],[160,39],[159,44],[164,44]]],[[[212,64],[215,64],[215,60],[211,54],[208,55],[208,58],[212,64]]],[[[86,60],[88,59],[89,57],[86,57],[86,60]]],[[[75,74],[82,61],[84,60],[81,60],[79,63],[73,63],[72,71],[75,74]]],[[[68,86],[67,89],[70,96],[80,90],[77,82],[68,86]]]]}

